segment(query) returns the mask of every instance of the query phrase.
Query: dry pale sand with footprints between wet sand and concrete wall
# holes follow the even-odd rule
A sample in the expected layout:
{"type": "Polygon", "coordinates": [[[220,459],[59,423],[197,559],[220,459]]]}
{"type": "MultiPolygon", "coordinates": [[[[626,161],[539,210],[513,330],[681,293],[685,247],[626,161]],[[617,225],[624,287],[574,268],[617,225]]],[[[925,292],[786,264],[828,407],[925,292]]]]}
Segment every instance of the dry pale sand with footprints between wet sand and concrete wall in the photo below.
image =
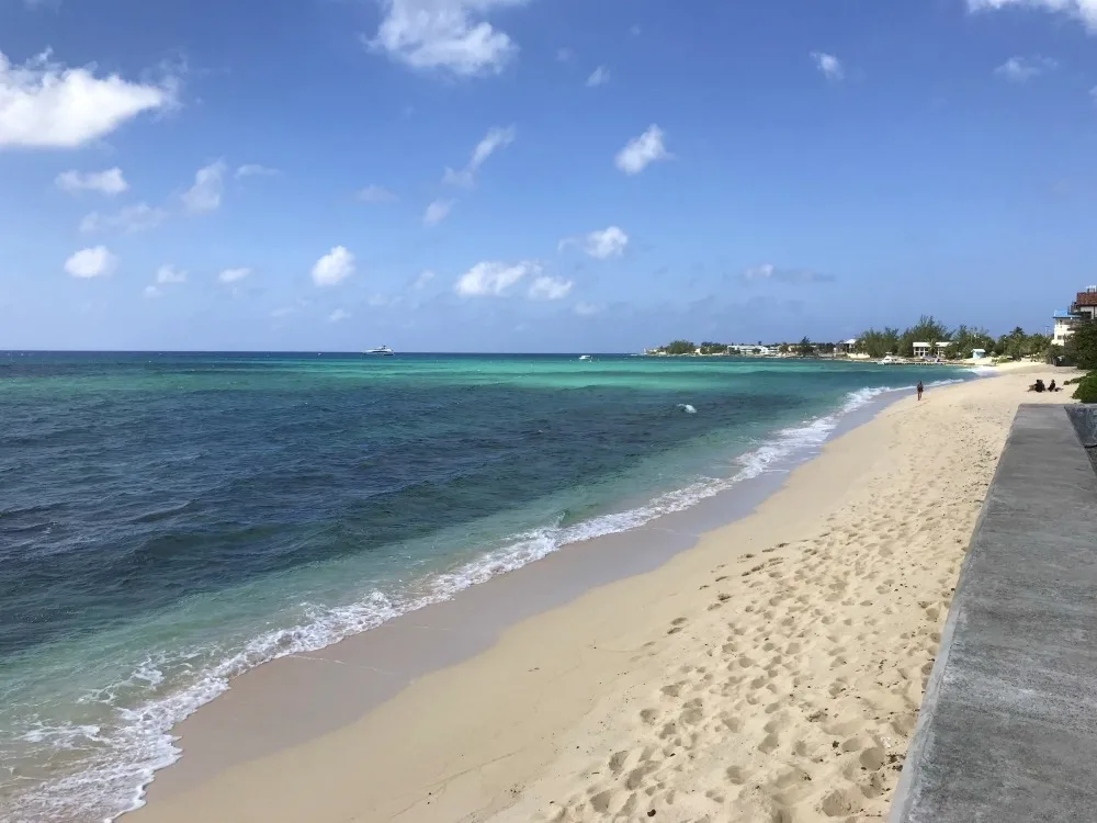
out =
{"type": "Polygon", "coordinates": [[[882,819],[1017,405],[1068,402],[1025,392],[1053,374],[903,399],[655,572],[125,821],[882,819]]]}

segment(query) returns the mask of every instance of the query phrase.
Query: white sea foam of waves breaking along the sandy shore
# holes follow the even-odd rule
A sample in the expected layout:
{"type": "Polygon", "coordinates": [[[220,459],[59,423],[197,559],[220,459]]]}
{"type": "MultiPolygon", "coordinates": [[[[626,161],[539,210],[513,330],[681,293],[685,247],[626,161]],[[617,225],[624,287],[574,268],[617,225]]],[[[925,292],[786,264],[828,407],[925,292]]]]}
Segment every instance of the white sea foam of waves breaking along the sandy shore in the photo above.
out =
{"type": "MultiPolygon", "coordinates": [[[[928,385],[955,382],[961,381],[937,381],[928,385]]],[[[903,388],[911,391],[913,386],[903,388]]],[[[743,481],[766,472],[787,471],[799,460],[817,452],[846,415],[863,408],[882,394],[896,391],[902,390],[863,388],[852,392],[838,412],[777,431],[736,458],[733,471],[726,477],[699,480],[626,511],[601,515],[568,526],[556,523],[514,535],[506,545],[486,552],[454,571],[434,576],[415,594],[394,599],[372,591],[347,606],[306,608],[298,624],[256,636],[244,649],[207,668],[188,688],[148,700],[136,708],[116,708],[117,722],[108,732],[99,726],[37,728],[29,733],[33,735],[33,742],[71,747],[77,741],[82,741],[94,744],[94,755],[89,757],[88,767],[79,774],[53,780],[39,787],[33,796],[21,798],[18,808],[13,809],[16,816],[12,823],[37,823],[73,816],[88,819],[91,814],[113,820],[139,808],[144,804],[144,790],[154,773],[174,763],[180,755],[170,734],[172,726],[225,691],[233,677],[268,661],[323,649],[399,615],[448,600],[462,589],[533,563],[562,546],[635,529],[664,515],[688,509],[743,481]]],[[[687,413],[693,410],[687,404],[679,408],[687,413]]],[[[183,653],[172,662],[178,666],[186,657],[199,656],[199,652],[183,653]]],[[[165,679],[163,668],[172,662],[146,659],[115,688],[98,691],[88,699],[113,704],[117,692],[132,690],[135,685],[150,689],[159,686],[165,679]]]]}

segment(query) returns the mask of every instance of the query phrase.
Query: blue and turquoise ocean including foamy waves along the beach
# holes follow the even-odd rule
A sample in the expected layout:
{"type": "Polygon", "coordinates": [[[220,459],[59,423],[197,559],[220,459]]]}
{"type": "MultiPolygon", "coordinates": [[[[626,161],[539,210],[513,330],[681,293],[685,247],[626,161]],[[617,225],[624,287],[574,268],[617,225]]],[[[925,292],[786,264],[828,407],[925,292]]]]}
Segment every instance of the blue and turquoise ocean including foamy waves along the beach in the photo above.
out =
{"type": "Polygon", "coordinates": [[[734,491],[887,390],[972,376],[0,352],[0,819],[110,820],[234,675],[734,491]]]}

